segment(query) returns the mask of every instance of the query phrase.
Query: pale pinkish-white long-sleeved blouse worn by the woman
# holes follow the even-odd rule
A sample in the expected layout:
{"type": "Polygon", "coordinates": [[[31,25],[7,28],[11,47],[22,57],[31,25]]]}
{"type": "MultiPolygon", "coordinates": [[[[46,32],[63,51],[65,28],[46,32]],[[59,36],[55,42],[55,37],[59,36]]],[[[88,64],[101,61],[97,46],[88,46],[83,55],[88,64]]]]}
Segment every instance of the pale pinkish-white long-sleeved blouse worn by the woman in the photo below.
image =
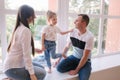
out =
{"type": "Polygon", "coordinates": [[[4,61],[4,71],[25,67],[30,74],[34,74],[31,52],[31,31],[21,24],[14,33],[10,51],[4,61]]]}

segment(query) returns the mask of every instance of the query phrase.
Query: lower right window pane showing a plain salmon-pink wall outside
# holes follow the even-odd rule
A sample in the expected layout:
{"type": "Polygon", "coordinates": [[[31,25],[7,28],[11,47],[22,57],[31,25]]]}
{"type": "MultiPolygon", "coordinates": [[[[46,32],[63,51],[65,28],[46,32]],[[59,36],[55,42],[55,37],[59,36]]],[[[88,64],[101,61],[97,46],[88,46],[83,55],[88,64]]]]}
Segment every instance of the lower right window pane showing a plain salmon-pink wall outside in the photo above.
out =
{"type": "Polygon", "coordinates": [[[120,51],[120,19],[105,19],[104,53],[120,51]]]}

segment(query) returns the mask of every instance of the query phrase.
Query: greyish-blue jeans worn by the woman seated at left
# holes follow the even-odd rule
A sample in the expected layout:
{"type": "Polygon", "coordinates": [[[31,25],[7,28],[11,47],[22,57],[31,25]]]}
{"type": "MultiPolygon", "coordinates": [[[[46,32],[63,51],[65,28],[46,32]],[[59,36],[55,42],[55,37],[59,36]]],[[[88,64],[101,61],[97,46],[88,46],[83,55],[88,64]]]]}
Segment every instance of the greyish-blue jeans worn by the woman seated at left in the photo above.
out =
{"type": "MultiPolygon", "coordinates": [[[[36,62],[33,62],[33,65],[37,79],[43,80],[46,76],[46,71],[40,64],[37,64],[36,62]]],[[[25,68],[12,68],[5,71],[5,74],[13,80],[31,80],[30,74],[25,68]]]]}

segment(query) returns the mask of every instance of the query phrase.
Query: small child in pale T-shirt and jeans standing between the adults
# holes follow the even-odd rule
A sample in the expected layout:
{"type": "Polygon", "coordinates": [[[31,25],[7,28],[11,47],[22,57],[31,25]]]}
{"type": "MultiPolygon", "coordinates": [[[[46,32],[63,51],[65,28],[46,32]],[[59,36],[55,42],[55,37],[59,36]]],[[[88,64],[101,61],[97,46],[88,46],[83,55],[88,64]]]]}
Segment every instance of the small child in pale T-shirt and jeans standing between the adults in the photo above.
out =
{"type": "Polygon", "coordinates": [[[42,51],[44,51],[45,59],[47,61],[47,66],[49,68],[48,73],[51,73],[51,61],[50,55],[53,59],[60,58],[61,54],[56,54],[56,38],[57,33],[61,35],[72,32],[72,30],[68,30],[66,32],[62,32],[57,26],[57,15],[55,12],[47,11],[47,21],[48,25],[46,25],[42,29],[42,51]]]}

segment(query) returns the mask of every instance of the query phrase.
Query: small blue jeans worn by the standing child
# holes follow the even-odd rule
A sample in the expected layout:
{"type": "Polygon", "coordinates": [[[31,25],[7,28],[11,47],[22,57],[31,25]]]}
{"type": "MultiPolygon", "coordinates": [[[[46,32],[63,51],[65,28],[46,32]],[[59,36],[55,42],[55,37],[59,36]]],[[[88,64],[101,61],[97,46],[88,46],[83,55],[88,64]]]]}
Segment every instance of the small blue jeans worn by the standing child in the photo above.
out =
{"type": "Polygon", "coordinates": [[[62,55],[59,53],[56,53],[56,43],[55,41],[48,41],[45,40],[45,59],[47,61],[47,66],[51,68],[51,60],[50,60],[50,55],[52,56],[53,59],[56,59],[58,57],[61,57],[62,55]]]}

